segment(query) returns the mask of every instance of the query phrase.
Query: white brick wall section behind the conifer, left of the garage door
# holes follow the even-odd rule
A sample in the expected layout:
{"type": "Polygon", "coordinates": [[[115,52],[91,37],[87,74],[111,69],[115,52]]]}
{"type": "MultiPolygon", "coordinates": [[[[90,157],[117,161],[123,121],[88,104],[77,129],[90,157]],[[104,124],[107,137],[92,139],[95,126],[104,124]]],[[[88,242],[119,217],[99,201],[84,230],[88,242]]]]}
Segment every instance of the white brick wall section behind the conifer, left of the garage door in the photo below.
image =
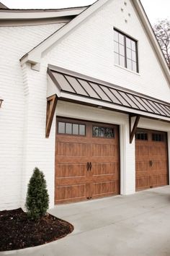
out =
{"type": "Polygon", "coordinates": [[[27,183],[32,169],[37,166],[45,174],[50,194],[50,207],[54,203],[54,170],[55,170],[55,118],[50,137],[45,138],[47,67],[41,72],[27,67],[27,119],[24,127],[24,166],[22,175],[22,207],[24,206],[27,183]]]}

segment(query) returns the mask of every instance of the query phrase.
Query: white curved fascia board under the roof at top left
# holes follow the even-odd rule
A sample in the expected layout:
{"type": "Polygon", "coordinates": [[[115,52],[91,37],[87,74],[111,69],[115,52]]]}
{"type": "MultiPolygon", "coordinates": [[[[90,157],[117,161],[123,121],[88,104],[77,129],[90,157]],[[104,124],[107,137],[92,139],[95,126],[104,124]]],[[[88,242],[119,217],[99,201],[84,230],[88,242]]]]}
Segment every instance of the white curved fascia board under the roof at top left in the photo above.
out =
{"type": "Polygon", "coordinates": [[[66,16],[74,16],[79,15],[84,11],[86,7],[81,7],[80,9],[66,9],[66,10],[57,10],[57,11],[27,11],[27,10],[19,10],[19,11],[0,11],[0,21],[1,20],[38,20],[38,19],[47,19],[47,18],[56,18],[56,17],[66,17],[66,16]]]}

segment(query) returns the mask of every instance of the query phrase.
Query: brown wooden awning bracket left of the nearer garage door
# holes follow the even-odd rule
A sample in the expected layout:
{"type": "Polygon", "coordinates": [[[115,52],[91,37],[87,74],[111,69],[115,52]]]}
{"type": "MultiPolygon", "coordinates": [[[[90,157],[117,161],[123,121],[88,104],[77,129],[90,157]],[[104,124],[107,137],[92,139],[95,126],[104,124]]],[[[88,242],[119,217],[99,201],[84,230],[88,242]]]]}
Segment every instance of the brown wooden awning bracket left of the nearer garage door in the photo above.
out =
{"type": "Polygon", "coordinates": [[[58,101],[58,97],[56,94],[47,98],[46,128],[45,128],[46,138],[48,138],[50,135],[50,128],[53,123],[53,117],[55,113],[55,108],[57,106],[57,101],[58,101]]]}

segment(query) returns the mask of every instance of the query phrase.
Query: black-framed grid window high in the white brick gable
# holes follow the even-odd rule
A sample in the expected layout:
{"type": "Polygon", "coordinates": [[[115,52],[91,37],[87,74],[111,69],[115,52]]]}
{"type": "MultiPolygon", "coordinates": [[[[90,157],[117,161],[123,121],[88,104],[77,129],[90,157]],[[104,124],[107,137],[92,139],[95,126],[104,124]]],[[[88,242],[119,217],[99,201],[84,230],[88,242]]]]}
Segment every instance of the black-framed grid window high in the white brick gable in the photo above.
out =
{"type": "Polygon", "coordinates": [[[114,29],[115,64],[138,72],[137,41],[114,29]]]}

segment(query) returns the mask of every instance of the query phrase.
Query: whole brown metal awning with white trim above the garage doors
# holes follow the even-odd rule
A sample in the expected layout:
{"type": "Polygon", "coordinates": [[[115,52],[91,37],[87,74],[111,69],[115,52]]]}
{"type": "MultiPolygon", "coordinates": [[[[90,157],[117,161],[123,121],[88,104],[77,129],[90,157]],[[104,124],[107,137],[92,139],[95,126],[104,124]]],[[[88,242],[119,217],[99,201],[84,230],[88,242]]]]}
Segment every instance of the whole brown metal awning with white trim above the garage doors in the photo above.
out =
{"type": "Polygon", "coordinates": [[[50,95],[58,99],[170,121],[170,103],[52,65],[48,74],[55,85],[50,95]]]}

